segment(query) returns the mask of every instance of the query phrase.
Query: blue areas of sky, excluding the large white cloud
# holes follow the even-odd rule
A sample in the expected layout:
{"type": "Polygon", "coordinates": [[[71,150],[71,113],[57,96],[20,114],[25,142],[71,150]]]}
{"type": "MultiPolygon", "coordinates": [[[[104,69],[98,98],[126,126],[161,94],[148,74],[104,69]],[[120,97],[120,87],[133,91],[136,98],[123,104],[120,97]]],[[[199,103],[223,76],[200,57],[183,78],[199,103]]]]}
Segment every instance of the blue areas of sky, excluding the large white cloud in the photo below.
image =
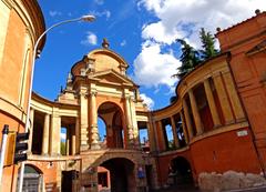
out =
{"type": "MultiPolygon", "coordinates": [[[[103,38],[110,41],[110,48],[121,54],[130,64],[127,74],[133,78],[133,62],[142,48],[142,27],[156,20],[136,1],[39,1],[47,27],[71,18],[92,13],[96,20],[92,23],[70,23],[55,28],[48,33],[47,43],[37,61],[33,89],[39,94],[54,100],[71,67],[91,50],[100,48],[103,38]],[[119,6],[117,6],[119,4],[119,6]],[[90,39],[90,34],[96,37],[90,39]],[[91,41],[90,41],[91,40],[91,41]]],[[[170,74],[171,75],[171,74],[170,74]]],[[[133,78],[134,79],[134,78],[133,78]]],[[[168,103],[167,88],[141,85],[141,92],[155,101],[154,108],[168,103]],[[160,90],[160,91],[158,91],[160,90]],[[165,94],[166,92],[166,94],[165,94]]]]}

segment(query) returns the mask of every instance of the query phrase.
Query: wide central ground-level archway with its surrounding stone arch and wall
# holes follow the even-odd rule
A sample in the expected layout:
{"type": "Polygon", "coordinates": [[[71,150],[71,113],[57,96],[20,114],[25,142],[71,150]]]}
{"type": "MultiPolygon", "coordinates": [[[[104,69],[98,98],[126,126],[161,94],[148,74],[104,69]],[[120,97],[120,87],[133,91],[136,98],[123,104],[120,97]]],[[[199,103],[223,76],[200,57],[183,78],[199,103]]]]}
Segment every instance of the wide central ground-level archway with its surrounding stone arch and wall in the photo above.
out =
{"type": "Polygon", "coordinates": [[[122,149],[88,153],[88,160],[82,162],[81,189],[88,192],[136,192],[146,188],[145,162],[141,155],[137,151],[122,149]],[[144,176],[139,176],[141,169],[144,176]],[[103,183],[108,183],[108,186],[104,184],[102,188],[103,183]]]}

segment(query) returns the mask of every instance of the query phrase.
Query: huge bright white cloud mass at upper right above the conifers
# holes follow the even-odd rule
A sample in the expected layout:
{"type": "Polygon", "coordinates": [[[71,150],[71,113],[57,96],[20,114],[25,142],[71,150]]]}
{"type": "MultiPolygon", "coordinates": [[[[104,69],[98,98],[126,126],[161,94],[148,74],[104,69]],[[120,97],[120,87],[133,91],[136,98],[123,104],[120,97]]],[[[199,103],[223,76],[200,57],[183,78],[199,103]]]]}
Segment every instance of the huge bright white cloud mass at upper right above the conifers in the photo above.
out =
{"type": "Polygon", "coordinates": [[[215,33],[217,27],[226,29],[255,16],[257,8],[266,10],[265,0],[140,0],[137,6],[140,11],[144,8],[154,14],[156,21],[142,28],[143,47],[134,60],[133,78],[142,85],[158,89],[165,84],[170,90],[177,81],[171,75],[181,65],[171,53],[177,38],[200,48],[201,28],[215,33]]]}

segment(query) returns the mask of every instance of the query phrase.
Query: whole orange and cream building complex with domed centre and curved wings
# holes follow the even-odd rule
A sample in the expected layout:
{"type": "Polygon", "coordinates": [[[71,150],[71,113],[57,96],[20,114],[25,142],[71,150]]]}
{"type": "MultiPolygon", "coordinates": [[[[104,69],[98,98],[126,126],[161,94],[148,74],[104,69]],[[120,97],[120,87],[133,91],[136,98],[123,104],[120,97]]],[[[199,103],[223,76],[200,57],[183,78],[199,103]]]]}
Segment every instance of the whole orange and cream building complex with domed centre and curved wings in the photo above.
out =
{"type": "MultiPolygon", "coordinates": [[[[0,84],[0,123],[23,131],[30,55],[44,24],[34,1],[3,0],[0,7],[0,80],[11,83],[0,84]],[[19,18],[22,12],[28,19],[19,18]],[[22,37],[13,39],[13,32],[22,37]]],[[[177,99],[156,111],[149,111],[139,85],[126,75],[129,64],[104,39],[102,49],[73,64],[55,101],[32,94],[27,175],[39,191],[265,184],[265,21],[266,13],[257,11],[219,31],[221,54],[185,75],[176,87],[177,99]],[[105,124],[102,139],[99,118],[105,124]],[[149,137],[144,142],[142,130],[149,137]]],[[[18,168],[4,168],[3,190],[14,191],[18,168]]]]}

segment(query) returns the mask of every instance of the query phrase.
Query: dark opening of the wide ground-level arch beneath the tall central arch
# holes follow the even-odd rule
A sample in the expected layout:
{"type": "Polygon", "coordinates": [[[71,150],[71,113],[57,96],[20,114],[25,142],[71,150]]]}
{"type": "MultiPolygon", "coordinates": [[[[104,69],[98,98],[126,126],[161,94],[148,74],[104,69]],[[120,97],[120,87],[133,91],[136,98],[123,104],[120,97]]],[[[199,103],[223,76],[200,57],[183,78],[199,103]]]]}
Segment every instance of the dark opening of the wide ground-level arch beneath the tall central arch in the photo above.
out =
{"type": "Polygon", "coordinates": [[[115,158],[103,162],[99,168],[104,168],[98,171],[99,192],[131,192],[134,190],[135,176],[134,163],[132,161],[124,158],[115,158]],[[105,185],[104,189],[102,184],[105,185]]]}

